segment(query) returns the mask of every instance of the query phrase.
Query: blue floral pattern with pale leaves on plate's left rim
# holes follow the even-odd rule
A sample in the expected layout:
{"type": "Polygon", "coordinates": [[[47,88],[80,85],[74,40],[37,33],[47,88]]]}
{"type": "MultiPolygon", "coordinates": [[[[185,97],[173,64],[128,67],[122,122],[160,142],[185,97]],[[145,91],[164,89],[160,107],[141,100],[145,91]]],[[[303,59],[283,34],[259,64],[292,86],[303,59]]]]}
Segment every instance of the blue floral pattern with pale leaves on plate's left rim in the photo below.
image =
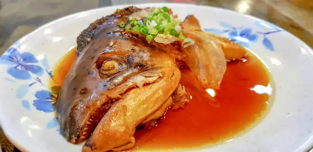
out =
{"type": "MultiPolygon", "coordinates": [[[[25,81],[26,84],[19,85],[15,90],[17,98],[21,99],[21,105],[26,110],[31,110],[31,104],[29,100],[24,99],[24,96],[29,93],[31,87],[35,84],[39,84],[43,88],[47,88],[41,82],[40,77],[44,71],[47,72],[50,79],[53,79],[52,71],[48,64],[46,56],[41,55],[41,60],[37,60],[35,56],[28,52],[21,52],[19,42],[15,42],[0,58],[0,64],[7,65],[7,73],[11,78],[25,81]],[[42,66],[41,66],[41,65],[42,66]]],[[[15,80],[11,78],[5,78],[5,80],[15,83],[15,80]]],[[[37,90],[34,92],[36,99],[33,100],[33,106],[44,113],[51,113],[55,111],[56,96],[48,90],[37,90]]],[[[47,128],[52,129],[58,127],[56,119],[50,121],[47,124],[47,128]],[[54,126],[52,126],[54,125],[54,126]]],[[[59,128],[57,131],[60,131],[59,128]]]]}

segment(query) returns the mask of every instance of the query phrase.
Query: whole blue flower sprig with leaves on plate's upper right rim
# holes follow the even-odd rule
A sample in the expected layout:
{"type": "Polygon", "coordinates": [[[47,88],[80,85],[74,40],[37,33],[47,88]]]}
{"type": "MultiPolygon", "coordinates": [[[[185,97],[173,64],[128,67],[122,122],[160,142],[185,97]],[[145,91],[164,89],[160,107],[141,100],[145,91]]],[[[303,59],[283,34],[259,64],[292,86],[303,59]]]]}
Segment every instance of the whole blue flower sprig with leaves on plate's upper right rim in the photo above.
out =
{"type": "Polygon", "coordinates": [[[237,42],[243,47],[249,48],[250,43],[256,43],[259,39],[259,36],[263,36],[262,45],[270,50],[274,51],[274,45],[271,42],[271,40],[267,37],[270,34],[274,34],[277,32],[281,32],[281,29],[276,28],[270,23],[264,23],[260,21],[256,21],[255,24],[258,27],[263,27],[266,29],[271,29],[273,31],[270,32],[254,32],[252,28],[249,27],[233,27],[229,23],[226,22],[220,22],[219,23],[221,27],[223,27],[226,30],[219,30],[219,29],[205,29],[205,31],[217,34],[217,35],[225,35],[228,36],[231,41],[237,42]],[[227,34],[227,35],[226,35],[227,34]]]}

